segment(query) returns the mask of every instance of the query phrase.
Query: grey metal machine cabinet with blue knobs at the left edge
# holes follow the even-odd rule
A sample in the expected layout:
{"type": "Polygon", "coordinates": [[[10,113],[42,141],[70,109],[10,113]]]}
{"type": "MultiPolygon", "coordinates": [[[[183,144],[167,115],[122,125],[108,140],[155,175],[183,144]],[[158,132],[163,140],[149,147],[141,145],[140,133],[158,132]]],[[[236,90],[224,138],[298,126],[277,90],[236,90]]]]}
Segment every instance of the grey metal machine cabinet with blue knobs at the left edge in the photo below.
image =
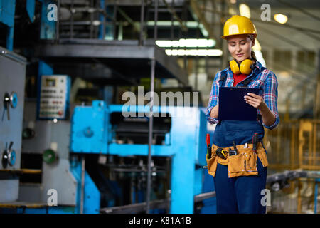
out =
{"type": "Polygon", "coordinates": [[[25,78],[26,58],[0,47],[0,203],[18,199],[25,78]]]}

